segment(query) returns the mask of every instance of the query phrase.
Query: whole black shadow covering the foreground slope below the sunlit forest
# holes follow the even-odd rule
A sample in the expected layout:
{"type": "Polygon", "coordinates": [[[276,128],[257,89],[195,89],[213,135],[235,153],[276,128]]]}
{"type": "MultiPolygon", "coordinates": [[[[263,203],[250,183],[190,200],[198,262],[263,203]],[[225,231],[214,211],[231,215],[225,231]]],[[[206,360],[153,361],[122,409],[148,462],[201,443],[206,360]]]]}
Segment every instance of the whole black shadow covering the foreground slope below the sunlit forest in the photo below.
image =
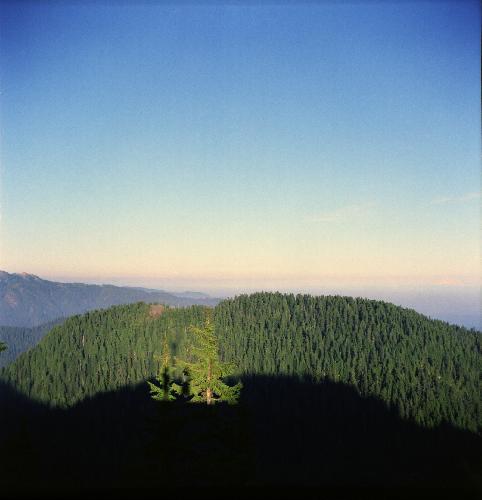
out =
{"type": "Polygon", "coordinates": [[[3,487],[480,488],[480,436],[421,428],[340,383],[243,383],[235,406],[159,403],[143,383],[67,410],[2,384],[3,487]]]}

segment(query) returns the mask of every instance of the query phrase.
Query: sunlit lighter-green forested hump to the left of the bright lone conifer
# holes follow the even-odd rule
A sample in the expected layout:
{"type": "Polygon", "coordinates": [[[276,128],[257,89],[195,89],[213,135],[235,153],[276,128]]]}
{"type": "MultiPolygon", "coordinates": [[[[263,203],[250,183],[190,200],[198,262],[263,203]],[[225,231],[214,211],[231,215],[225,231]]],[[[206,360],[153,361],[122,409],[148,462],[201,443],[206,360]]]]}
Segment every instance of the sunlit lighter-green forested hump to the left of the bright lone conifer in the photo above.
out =
{"type": "Polygon", "coordinates": [[[133,386],[159,373],[167,335],[182,355],[186,332],[201,324],[204,307],[166,307],[158,317],[148,304],[114,306],[72,316],[0,371],[17,390],[51,406],[68,407],[98,393],[133,386]]]}

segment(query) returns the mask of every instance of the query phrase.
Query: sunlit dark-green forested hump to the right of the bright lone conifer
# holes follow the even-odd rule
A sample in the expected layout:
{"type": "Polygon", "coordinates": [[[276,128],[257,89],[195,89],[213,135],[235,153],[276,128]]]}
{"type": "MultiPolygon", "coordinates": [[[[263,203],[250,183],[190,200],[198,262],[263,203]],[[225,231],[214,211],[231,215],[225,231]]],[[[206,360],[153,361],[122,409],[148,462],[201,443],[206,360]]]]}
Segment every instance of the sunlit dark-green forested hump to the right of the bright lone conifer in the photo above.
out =
{"type": "Polygon", "coordinates": [[[354,387],[427,427],[481,428],[481,334],[386,302],[256,293],[216,307],[220,354],[244,374],[354,387]]]}

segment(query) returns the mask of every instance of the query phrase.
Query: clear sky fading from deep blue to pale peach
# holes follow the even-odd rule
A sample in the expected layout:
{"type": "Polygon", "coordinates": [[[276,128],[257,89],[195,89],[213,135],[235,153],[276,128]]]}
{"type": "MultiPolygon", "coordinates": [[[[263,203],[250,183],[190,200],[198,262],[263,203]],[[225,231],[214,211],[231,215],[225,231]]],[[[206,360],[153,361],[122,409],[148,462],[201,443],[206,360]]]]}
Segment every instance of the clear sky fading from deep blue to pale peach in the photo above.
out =
{"type": "Polygon", "coordinates": [[[480,125],[478,2],[2,2],[0,269],[477,322],[480,125]]]}

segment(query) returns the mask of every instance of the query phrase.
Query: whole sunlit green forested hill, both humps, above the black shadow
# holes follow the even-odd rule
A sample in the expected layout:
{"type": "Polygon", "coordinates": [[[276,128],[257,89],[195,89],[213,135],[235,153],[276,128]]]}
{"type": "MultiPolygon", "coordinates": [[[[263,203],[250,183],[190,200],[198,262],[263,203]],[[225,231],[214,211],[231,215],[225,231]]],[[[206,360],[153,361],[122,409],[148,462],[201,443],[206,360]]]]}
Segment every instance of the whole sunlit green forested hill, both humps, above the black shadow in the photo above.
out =
{"type": "MultiPolygon", "coordinates": [[[[164,333],[185,354],[201,306],[138,303],[89,312],[53,328],[1,378],[31,398],[70,406],[152,378],[164,333]]],[[[221,355],[243,376],[308,376],[374,396],[423,426],[480,429],[480,333],[392,304],[349,297],[257,293],[215,308],[221,355]]]]}

